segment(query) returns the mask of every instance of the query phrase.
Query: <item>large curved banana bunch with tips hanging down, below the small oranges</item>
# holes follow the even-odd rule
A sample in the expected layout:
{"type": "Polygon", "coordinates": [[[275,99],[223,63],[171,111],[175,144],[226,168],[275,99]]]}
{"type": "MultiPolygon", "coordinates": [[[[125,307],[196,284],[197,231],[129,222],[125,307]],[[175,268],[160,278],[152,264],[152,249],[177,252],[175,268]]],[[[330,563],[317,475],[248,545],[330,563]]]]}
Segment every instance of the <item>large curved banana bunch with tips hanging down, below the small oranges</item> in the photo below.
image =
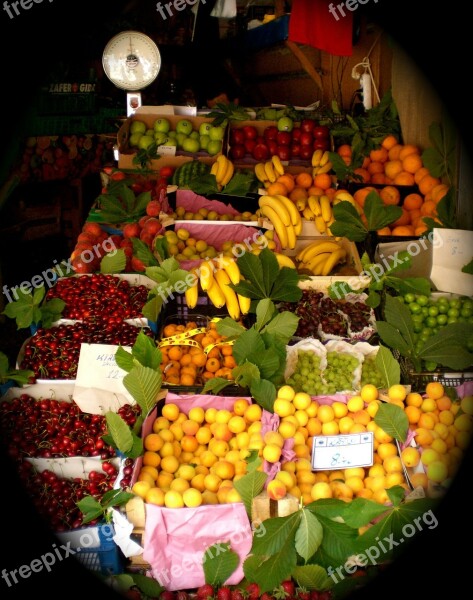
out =
{"type": "Polygon", "coordinates": [[[269,219],[278,234],[282,248],[294,249],[302,231],[302,218],[292,200],[286,196],[260,196],[259,213],[269,219]]]}

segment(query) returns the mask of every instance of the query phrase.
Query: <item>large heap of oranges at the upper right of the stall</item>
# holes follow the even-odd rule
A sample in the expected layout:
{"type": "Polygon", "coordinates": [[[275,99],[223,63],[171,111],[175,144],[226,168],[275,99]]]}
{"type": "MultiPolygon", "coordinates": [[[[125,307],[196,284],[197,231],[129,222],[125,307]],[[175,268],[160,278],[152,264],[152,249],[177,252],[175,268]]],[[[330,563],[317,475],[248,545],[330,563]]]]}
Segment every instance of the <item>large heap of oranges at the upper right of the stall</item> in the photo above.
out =
{"type": "MultiPolygon", "coordinates": [[[[351,158],[348,145],[337,152],[345,162],[351,158]]],[[[349,164],[349,162],[347,162],[349,164]]],[[[367,184],[384,185],[376,189],[368,185],[354,193],[356,202],[363,208],[366,196],[376,190],[384,204],[401,205],[401,217],[389,227],[380,229],[380,235],[419,236],[427,231],[424,217],[437,219],[437,204],[448,192],[448,186],[433,177],[424,167],[420,149],[413,144],[400,144],[394,135],[388,135],[381,147],[371,150],[363,165],[354,170],[367,184]],[[403,200],[398,186],[417,186],[419,190],[408,194],[403,200]]],[[[438,219],[437,219],[438,220],[438,219]]]]}

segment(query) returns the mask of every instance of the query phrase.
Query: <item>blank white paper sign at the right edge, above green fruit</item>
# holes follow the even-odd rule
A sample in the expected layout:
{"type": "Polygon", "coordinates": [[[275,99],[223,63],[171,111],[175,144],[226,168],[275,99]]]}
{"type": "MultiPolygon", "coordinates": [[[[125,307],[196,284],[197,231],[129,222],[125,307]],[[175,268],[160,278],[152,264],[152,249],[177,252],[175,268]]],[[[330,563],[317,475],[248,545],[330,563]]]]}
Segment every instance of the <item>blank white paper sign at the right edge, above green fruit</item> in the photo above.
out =
{"type": "Polygon", "coordinates": [[[437,290],[473,296],[473,275],[462,268],[473,258],[473,231],[434,229],[430,279],[437,290]]]}

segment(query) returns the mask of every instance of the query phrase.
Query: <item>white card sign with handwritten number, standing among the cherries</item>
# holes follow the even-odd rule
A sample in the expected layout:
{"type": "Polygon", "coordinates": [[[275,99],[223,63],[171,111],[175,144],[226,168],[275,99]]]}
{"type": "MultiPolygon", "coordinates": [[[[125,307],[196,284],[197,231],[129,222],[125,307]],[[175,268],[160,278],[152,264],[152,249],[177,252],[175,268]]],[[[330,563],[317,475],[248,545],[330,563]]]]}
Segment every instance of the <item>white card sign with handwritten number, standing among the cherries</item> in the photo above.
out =
{"type": "MultiPolygon", "coordinates": [[[[82,411],[103,415],[135,404],[123,385],[127,373],[115,361],[117,349],[113,344],[81,344],[72,397],[82,411]]],[[[131,352],[131,348],[124,349],[131,352]]]]}

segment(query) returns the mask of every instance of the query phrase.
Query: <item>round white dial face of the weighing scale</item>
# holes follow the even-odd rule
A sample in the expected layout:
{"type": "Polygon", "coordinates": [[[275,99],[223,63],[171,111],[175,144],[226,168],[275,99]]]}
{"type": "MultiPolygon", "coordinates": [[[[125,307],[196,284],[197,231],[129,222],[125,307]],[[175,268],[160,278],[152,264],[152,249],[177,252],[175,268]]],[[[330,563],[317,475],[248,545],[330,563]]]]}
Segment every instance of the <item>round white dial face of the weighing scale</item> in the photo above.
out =
{"type": "Polygon", "coordinates": [[[161,54],[154,41],[139,31],[122,31],[105,46],[105,74],[118,88],[136,92],[152,83],[161,68],[161,54]]]}

